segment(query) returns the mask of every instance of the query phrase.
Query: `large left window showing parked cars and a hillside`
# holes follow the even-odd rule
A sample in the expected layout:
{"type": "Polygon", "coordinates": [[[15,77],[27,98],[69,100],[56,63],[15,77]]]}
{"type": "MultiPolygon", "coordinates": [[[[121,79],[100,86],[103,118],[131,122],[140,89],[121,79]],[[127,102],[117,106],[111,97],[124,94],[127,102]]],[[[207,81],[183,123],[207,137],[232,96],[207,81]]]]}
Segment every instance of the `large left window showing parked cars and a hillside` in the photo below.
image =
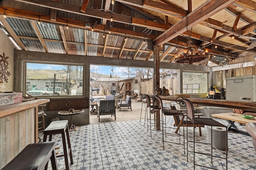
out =
{"type": "Polygon", "coordinates": [[[82,96],[83,66],[26,63],[26,93],[32,96],[82,96]]]}

